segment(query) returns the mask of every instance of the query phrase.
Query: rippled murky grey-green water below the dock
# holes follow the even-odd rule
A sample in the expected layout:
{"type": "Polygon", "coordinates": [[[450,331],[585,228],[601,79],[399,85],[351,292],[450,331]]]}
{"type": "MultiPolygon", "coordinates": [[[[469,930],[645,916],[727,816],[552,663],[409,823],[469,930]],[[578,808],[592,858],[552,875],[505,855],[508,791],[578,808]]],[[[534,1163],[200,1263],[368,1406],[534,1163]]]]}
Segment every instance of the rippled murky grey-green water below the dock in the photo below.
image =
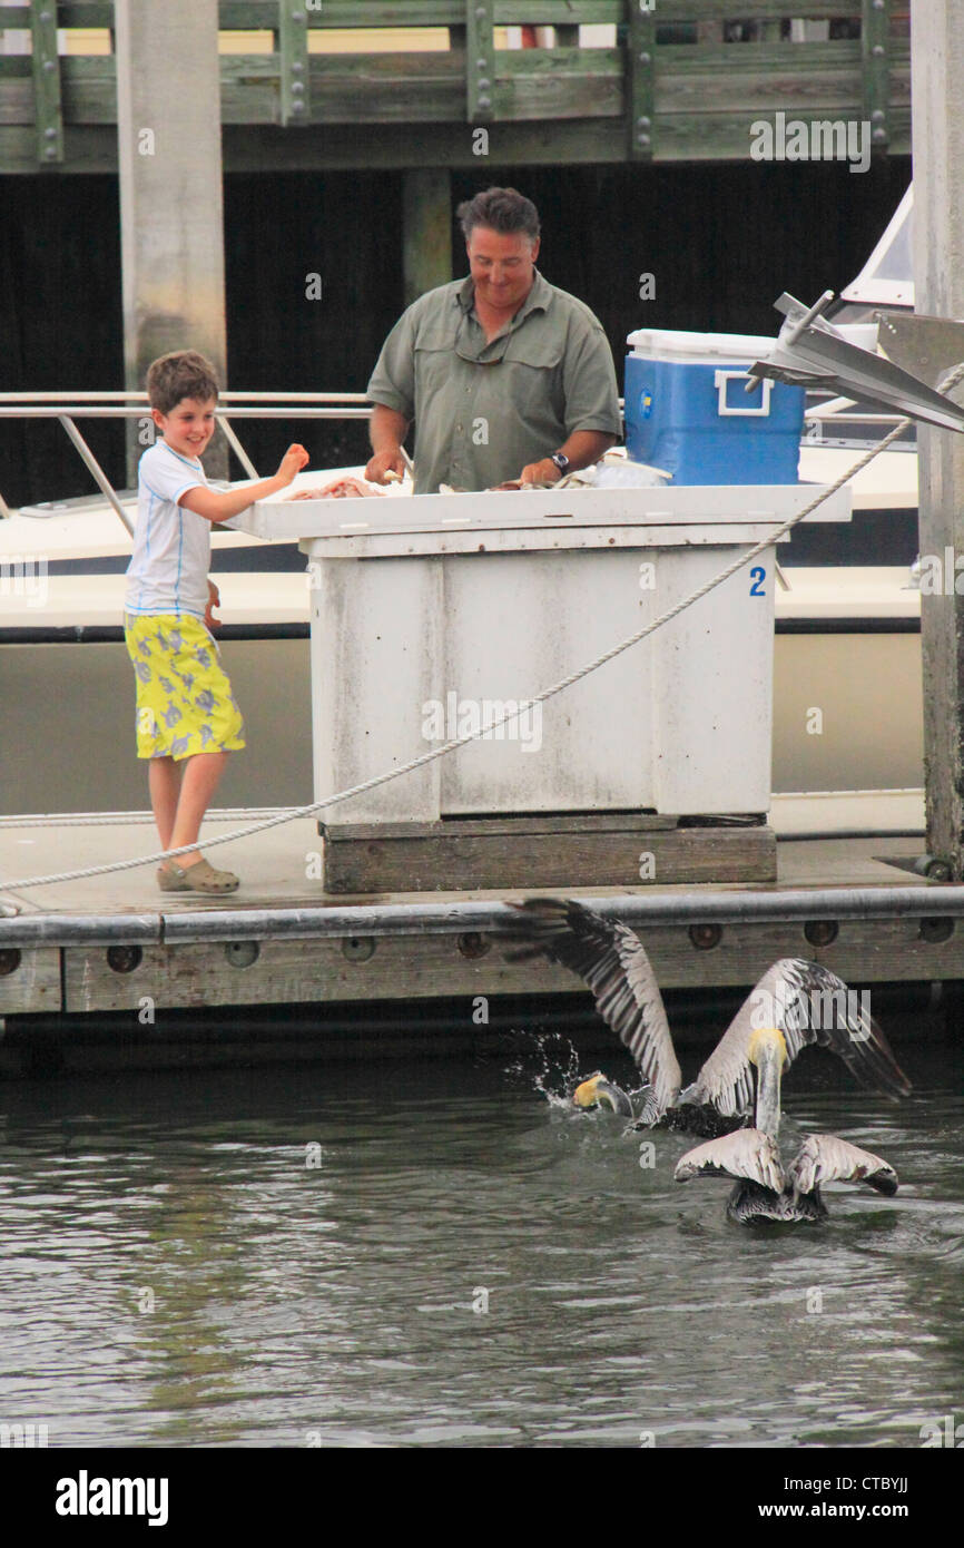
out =
{"type": "Polygon", "coordinates": [[[729,1184],[672,1181],[682,1136],[644,1169],[645,1136],[549,1102],[531,1048],[2,1087],[0,1421],[50,1446],[916,1447],[964,1420],[959,1045],[897,1043],[899,1107],[805,1054],[785,1141],[843,1135],[902,1187],[761,1229],[726,1221],[729,1184]]]}

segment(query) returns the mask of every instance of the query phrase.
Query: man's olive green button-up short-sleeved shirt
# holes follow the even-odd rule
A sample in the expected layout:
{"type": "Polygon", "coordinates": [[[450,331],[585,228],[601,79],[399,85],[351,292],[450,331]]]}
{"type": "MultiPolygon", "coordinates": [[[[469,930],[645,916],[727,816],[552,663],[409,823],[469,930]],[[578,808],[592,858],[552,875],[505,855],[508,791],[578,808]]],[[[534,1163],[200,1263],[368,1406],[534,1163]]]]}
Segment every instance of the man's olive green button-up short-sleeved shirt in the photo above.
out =
{"type": "Polygon", "coordinates": [[[573,430],[620,433],[613,354],[583,302],[538,271],[491,344],[472,279],[409,307],[385,339],[368,396],[415,420],[415,492],[487,489],[557,452],[573,430]]]}

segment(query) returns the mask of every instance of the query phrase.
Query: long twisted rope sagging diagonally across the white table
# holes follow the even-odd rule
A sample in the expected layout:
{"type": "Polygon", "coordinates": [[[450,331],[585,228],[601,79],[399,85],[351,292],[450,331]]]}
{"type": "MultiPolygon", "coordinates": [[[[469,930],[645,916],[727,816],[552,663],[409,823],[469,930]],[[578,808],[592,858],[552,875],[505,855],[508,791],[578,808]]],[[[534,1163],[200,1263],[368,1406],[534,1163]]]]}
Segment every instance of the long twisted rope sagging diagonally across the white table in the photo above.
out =
{"type": "MultiPolygon", "coordinates": [[[[949,392],[962,376],[964,376],[964,361],[958,367],[955,367],[955,370],[941,382],[938,390],[949,392]]],[[[206,837],[203,847],[206,850],[212,850],[218,844],[234,844],[237,839],[249,839],[255,833],[265,833],[269,828],[277,828],[285,822],[297,822],[299,817],[311,817],[317,811],[326,811],[330,807],[337,807],[340,805],[340,802],[351,800],[354,796],[362,796],[370,789],[378,789],[379,785],[387,785],[393,779],[401,779],[402,774],[412,774],[413,769],[424,768],[427,763],[433,763],[435,759],[443,759],[446,757],[447,752],[455,752],[458,748],[467,746],[469,741],[477,741],[480,737],[489,735],[489,732],[495,731],[498,726],[504,726],[509,721],[517,720],[521,714],[528,714],[532,704],[545,704],[546,700],[554,698],[565,689],[573,687],[576,683],[580,683],[582,678],[590,675],[590,672],[597,672],[599,667],[603,667],[607,664],[607,661],[613,661],[616,656],[620,656],[624,650],[630,650],[633,646],[638,646],[648,635],[656,633],[656,630],[662,628],[664,624],[670,624],[675,618],[679,618],[679,615],[685,611],[687,607],[693,607],[695,602],[699,602],[718,585],[723,585],[723,582],[729,580],[730,576],[737,574],[738,570],[746,568],[746,565],[750,563],[752,559],[757,559],[758,554],[764,553],[767,548],[772,548],[775,543],[778,543],[780,539],[785,536],[785,533],[789,533],[791,528],[797,526],[798,522],[803,522],[803,519],[808,517],[812,511],[815,511],[817,506],[823,505],[825,500],[829,500],[829,497],[834,495],[837,489],[842,489],[845,483],[849,483],[851,478],[856,478],[857,474],[862,472],[863,467],[867,467],[868,463],[874,460],[874,457],[879,457],[879,454],[884,452],[891,444],[891,441],[896,441],[897,437],[904,435],[904,432],[910,424],[911,420],[901,420],[899,424],[896,424],[894,429],[890,432],[890,435],[885,435],[877,446],[870,447],[870,450],[867,450],[863,457],[860,457],[854,463],[853,467],[849,467],[845,474],[842,474],[840,478],[836,480],[836,483],[829,485],[829,488],[823,489],[815,500],[811,500],[811,503],[805,505],[802,511],[797,511],[797,514],[792,515],[788,522],[785,522],[783,526],[778,526],[775,533],[767,534],[767,537],[763,537],[750,550],[741,553],[737,559],[733,559],[732,563],[726,567],[726,570],[721,570],[720,574],[713,576],[710,580],[706,580],[696,591],[692,591],[690,596],[682,598],[679,602],[670,607],[668,611],[662,613],[659,618],[655,618],[650,624],[645,624],[644,628],[636,630],[636,633],[630,635],[628,639],[624,639],[620,644],[613,646],[610,650],[605,650],[600,656],[596,656],[594,661],[590,661],[586,663],[586,666],[579,667],[577,672],[569,672],[569,675],[560,678],[559,683],[552,683],[551,687],[543,689],[542,694],[537,694],[535,698],[528,700],[518,709],[514,709],[509,714],[501,715],[501,718],[494,720],[491,724],[486,724],[484,728],[480,726],[478,731],[466,731],[461,737],[453,737],[452,741],[444,741],[441,746],[432,748],[429,752],[422,752],[416,759],[410,759],[409,763],[402,763],[396,769],[388,769],[384,774],[376,774],[371,779],[362,780],[361,785],[351,785],[348,789],[342,789],[336,796],[328,796],[325,797],[325,800],[316,800],[309,807],[291,807],[274,817],[268,817],[263,822],[252,824],[249,828],[238,828],[235,833],[223,833],[220,834],[220,837],[212,837],[212,839],[206,837]]],[[[158,850],[155,854],[142,854],[139,859],[133,861],[113,861],[108,865],[87,865],[80,870],[56,872],[51,876],[28,876],[23,881],[11,881],[11,882],[3,882],[0,885],[3,885],[5,892],[15,892],[25,887],[46,887],[57,881],[82,881],[87,876],[108,876],[113,872],[136,870],[138,865],[156,865],[161,861],[170,859],[176,854],[190,854],[200,847],[201,842],[197,841],[195,844],[183,844],[181,848],[178,850],[158,850]]]]}

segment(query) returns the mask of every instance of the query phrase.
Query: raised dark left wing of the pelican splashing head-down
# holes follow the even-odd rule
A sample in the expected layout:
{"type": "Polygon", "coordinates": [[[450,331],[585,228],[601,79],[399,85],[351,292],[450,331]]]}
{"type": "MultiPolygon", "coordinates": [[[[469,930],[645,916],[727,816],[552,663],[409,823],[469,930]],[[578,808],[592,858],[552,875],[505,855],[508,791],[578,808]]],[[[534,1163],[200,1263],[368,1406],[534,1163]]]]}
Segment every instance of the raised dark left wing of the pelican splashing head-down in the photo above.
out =
{"type": "Polygon", "coordinates": [[[577,972],[593,992],[607,1026],[633,1054],[653,1087],[659,1111],[676,1099],[682,1076],[673,1053],[670,1023],[642,941],[625,924],[602,920],[579,902],[528,898],[514,904],[518,929],[532,944],[515,961],[545,955],[577,972]]]}

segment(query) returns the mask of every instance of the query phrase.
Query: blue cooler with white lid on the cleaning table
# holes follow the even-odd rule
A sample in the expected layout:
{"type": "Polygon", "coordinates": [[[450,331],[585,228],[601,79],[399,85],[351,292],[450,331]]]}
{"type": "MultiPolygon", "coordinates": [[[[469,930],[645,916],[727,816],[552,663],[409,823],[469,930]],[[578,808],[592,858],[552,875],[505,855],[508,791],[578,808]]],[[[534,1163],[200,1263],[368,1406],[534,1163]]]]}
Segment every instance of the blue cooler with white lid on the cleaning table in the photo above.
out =
{"type": "Polygon", "coordinates": [[[803,387],[764,378],[746,392],[772,339],[641,328],[627,344],[630,457],[678,485],[797,483],[803,387]]]}

